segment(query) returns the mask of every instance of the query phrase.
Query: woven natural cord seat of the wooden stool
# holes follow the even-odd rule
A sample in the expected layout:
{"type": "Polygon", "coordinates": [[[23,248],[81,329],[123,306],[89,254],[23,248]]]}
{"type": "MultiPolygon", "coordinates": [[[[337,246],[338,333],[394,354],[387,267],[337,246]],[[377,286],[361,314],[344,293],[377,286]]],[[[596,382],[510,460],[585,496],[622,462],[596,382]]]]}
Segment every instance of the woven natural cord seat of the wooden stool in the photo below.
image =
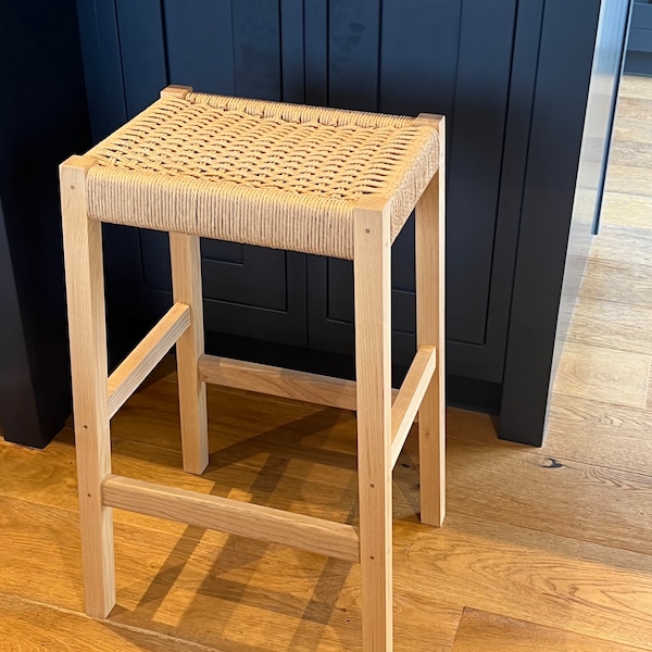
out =
{"type": "Polygon", "coordinates": [[[353,258],[353,211],[387,200],[392,240],[437,166],[431,121],[185,92],[91,149],[93,220],[353,258]]]}

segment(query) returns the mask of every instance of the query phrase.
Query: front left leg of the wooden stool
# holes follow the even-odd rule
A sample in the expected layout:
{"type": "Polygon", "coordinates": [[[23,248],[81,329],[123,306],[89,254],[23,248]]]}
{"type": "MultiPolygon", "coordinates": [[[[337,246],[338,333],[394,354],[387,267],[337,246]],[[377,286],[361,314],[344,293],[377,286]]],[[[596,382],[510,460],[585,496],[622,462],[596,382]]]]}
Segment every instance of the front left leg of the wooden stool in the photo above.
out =
{"type": "Polygon", "coordinates": [[[115,604],[113,514],[102,506],[111,473],[102,225],[86,213],[86,173],[93,159],[61,166],[63,247],[86,613],[103,618],[115,604]]]}

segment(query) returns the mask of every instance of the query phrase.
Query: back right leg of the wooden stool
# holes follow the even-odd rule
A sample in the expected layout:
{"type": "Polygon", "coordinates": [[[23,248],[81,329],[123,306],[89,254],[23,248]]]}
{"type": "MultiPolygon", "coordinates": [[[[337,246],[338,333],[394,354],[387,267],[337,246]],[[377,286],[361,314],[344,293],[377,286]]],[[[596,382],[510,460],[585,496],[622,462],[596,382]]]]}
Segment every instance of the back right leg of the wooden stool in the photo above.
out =
{"type": "Polygon", "coordinates": [[[418,411],[421,519],[440,526],[446,514],[446,314],[443,121],[439,170],[416,204],[416,342],[437,348],[437,369],[418,411]]]}

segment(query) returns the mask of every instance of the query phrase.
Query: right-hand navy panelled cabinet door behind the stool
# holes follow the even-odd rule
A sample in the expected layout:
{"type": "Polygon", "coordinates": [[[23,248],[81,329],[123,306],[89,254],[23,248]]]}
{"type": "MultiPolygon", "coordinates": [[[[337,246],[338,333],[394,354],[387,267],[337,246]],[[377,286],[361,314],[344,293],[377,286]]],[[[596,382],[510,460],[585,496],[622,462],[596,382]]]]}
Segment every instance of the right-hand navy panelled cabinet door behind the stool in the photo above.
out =
{"type": "MultiPolygon", "coordinates": [[[[447,115],[449,371],[499,383],[506,334],[488,337],[517,0],[331,0],[328,98],[338,106],[447,115]],[[381,7],[380,7],[381,4],[381,7]],[[482,364],[485,356],[490,363],[482,364]],[[478,364],[479,362],[479,364],[478,364]]],[[[414,227],[392,250],[393,359],[415,349],[414,227]]],[[[309,344],[352,352],[350,263],[309,261],[309,344]]]]}

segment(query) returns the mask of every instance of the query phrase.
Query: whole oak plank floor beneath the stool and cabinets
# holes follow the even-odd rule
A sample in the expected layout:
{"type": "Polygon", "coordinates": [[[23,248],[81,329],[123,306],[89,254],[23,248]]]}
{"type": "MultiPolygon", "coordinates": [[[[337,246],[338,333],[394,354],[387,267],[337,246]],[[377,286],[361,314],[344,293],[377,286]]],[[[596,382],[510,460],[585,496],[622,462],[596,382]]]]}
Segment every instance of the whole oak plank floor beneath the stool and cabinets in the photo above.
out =
{"type": "MultiPolygon", "coordinates": [[[[411,436],[394,473],[398,652],[652,651],[652,82],[625,79],[604,227],[546,446],[449,411],[449,516],[418,523],[411,436]]],[[[174,374],[113,421],[114,469],[354,522],[354,419],[211,390],[211,465],[179,471],[174,374]]],[[[73,436],[0,440],[0,651],[360,650],[356,566],[116,512],[118,604],[83,614],[73,436]]]]}

